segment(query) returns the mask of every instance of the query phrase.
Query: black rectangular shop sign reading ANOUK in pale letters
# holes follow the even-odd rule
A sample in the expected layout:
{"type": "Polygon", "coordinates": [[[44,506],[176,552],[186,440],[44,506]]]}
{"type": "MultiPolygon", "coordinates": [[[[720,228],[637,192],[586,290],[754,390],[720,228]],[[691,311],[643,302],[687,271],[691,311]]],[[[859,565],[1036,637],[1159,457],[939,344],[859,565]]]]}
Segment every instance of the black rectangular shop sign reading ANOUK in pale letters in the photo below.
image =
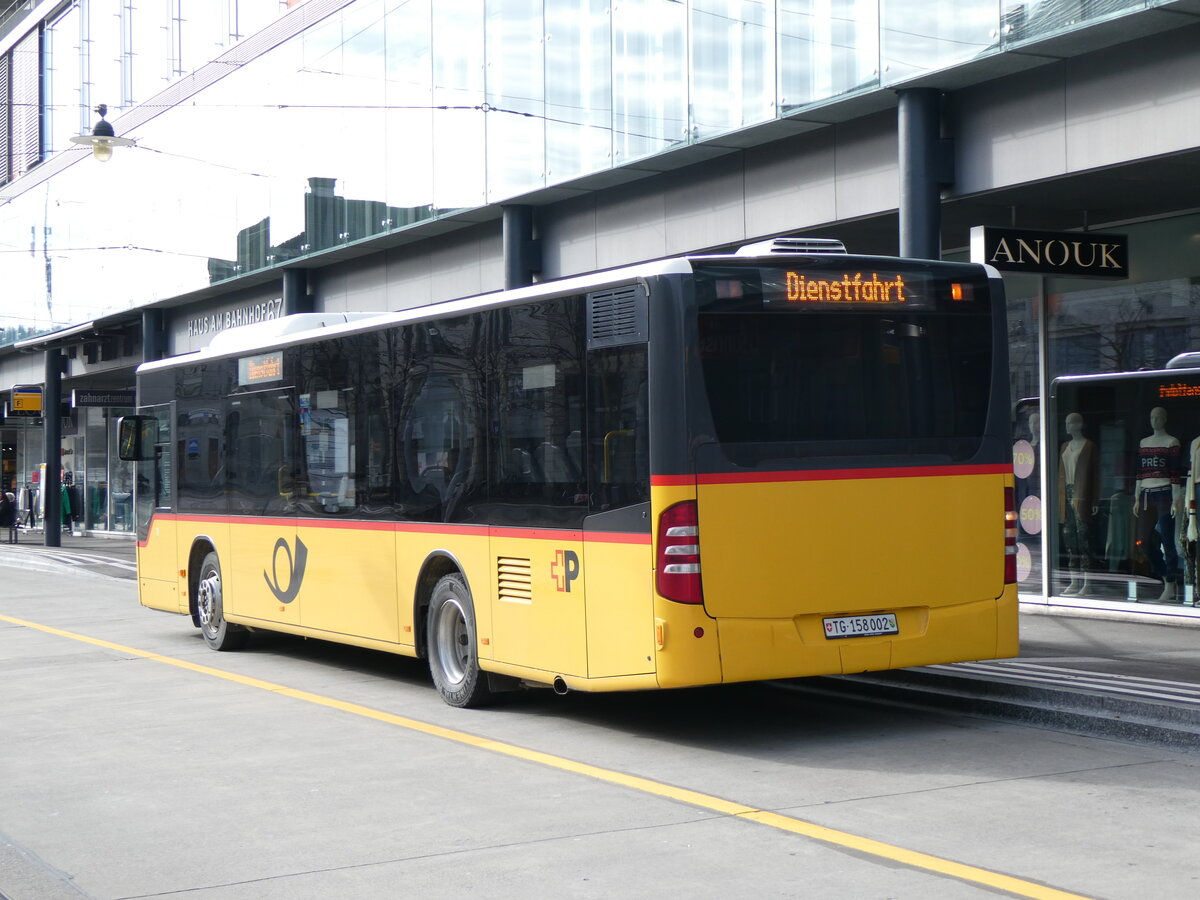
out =
{"type": "Polygon", "coordinates": [[[1129,277],[1129,240],[1123,234],[971,229],[971,262],[1009,272],[1129,277]]]}

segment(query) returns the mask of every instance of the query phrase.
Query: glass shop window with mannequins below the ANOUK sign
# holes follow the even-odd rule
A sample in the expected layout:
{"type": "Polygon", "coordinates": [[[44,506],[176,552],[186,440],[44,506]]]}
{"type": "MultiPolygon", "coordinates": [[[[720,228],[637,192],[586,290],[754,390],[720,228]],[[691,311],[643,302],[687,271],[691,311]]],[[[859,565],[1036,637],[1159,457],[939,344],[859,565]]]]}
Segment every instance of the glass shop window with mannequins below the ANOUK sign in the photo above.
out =
{"type": "Polygon", "coordinates": [[[1020,588],[1192,606],[1200,358],[1168,365],[1200,350],[1200,215],[1106,230],[1129,278],[1004,280],[1020,588]]]}

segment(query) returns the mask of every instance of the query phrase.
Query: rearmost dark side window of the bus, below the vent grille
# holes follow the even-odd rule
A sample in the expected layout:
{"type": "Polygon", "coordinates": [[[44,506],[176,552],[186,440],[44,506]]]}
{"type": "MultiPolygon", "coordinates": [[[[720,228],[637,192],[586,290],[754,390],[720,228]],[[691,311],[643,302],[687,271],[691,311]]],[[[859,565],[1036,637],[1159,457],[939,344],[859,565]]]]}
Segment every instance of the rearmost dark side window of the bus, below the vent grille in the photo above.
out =
{"type": "Polygon", "coordinates": [[[649,499],[646,346],[588,354],[588,476],[592,510],[649,499]]]}

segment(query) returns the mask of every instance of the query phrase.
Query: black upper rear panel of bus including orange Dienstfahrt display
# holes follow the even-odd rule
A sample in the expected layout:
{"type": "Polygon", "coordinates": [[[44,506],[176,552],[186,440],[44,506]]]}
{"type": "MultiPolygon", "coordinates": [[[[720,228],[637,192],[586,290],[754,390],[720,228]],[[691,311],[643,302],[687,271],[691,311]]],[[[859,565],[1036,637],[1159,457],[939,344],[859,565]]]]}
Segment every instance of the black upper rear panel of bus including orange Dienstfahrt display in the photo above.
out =
{"type": "Polygon", "coordinates": [[[715,438],[697,463],[853,468],[978,452],[992,378],[988,280],[973,266],[888,262],[697,266],[715,438]]]}

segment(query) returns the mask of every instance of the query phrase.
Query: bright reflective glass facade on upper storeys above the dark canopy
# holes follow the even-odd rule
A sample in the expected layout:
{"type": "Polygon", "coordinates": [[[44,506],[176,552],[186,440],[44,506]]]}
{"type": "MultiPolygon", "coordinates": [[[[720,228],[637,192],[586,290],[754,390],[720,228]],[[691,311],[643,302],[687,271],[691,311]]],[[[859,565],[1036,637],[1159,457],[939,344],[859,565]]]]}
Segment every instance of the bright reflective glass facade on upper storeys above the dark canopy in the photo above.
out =
{"type": "Polygon", "coordinates": [[[0,56],[0,343],[1157,5],[77,0],[0,56]]]}

